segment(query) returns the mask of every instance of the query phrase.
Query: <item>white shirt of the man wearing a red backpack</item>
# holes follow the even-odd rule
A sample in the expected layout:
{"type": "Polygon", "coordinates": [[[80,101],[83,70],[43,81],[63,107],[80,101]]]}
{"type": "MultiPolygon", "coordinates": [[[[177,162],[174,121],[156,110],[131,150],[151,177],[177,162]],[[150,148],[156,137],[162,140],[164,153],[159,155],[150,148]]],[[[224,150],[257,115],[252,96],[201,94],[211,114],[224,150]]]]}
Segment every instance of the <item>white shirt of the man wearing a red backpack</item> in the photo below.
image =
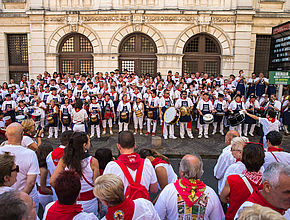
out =
{"type": "MultiPolygon", "coordinates": [[[[133,180],[135,181],[137,170],[133,171],[129,167],[128,167],[128,170],[129,170],[133,180]]],[[[116,162],[111,161],[107,164],[107,166],[104,170],[104,175],[105,174],[115,174],[116,176],[120,177],[124,183],[125,190],[129,186],[129,182],[128,182],[127,178],[125,177],[122,169],[120,168],[120,166],[116,162]]],[[[154,170],[149,159],[145,159],[140,183],[141,183],[141,185],[146,187],[147,190],[149,190],[149,186],[151,184],[157,183],[157,177],[155,174],[155,170],[154,170]]]]}

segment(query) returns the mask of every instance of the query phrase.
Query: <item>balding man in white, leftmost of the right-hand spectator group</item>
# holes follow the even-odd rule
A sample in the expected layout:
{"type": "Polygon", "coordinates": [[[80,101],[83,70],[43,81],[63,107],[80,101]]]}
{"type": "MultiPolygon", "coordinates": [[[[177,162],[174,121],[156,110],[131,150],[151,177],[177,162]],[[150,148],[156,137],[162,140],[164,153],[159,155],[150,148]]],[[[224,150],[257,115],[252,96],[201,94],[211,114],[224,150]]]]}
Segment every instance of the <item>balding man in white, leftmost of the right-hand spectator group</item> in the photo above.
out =
{"type": "Polygon", "coordinates": [[[233,157],[231,152],[231,141],[234,137],[239,137],[240,134],[237,131],[228,131],[225,136],[225,144],[226,147],[223,149],[222,153],[220,154],[218,161],[214,167],[214,176],[218,180],[218,193],[222,190],[222,180],[224,178],[225,172],[227,168],[236,162],[236,159],[233,157]]]}

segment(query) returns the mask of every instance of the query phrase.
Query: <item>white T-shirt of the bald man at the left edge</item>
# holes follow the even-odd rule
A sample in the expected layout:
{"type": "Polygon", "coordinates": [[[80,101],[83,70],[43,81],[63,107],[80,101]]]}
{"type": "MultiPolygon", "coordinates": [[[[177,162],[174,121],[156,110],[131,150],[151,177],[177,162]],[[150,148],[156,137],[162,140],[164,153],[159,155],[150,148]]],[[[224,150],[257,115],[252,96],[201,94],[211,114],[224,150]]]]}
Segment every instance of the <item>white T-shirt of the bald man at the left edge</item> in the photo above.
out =
{"type": "MultiPolygon", "coordinates": [[[[16,183],[11,186],[15,190],[23,190],[26,186],[27,175],[40,174],[38,160],[34,151],[20,145],[4,145],[0,148],[0,153],[10,152],[15,156],[15,164],[19,166],[16,183]]],[[[37,199],[36,187],[29,194],[33,201],[37,199]]]]}

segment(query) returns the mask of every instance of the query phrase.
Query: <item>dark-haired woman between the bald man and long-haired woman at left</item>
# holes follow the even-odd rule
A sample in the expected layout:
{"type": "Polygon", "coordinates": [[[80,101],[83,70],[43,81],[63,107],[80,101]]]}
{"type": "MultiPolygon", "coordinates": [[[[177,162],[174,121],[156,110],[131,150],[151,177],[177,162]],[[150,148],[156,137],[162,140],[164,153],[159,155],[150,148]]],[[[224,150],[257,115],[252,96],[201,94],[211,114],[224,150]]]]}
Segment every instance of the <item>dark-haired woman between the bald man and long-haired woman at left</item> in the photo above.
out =
{"type": "Polygon", "coordinates": [[[53,151],[52,146],[40,145],[36,150],[36,155],[39,164],[40,175],[37,175],[36,183],[38,185],[38,199],[39,203],[42,205],[43,209],[45,206],[53,201],[52,189],[49,185],[49,178],[51,174],[47,169],[46,157],[53,151]]]}

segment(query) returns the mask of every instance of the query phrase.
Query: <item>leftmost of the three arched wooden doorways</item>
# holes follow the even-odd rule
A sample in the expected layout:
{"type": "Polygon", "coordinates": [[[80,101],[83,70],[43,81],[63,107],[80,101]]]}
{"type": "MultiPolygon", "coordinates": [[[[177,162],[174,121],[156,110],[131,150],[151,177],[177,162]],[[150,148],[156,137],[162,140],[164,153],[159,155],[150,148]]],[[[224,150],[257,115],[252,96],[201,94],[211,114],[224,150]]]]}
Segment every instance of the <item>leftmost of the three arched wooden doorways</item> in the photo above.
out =
{"type": "Polygon", "coordinates": [[[93,73],[93,47],[89,39],[78,33],[68,34],[59,46],[60,73],[93,73]]]}

